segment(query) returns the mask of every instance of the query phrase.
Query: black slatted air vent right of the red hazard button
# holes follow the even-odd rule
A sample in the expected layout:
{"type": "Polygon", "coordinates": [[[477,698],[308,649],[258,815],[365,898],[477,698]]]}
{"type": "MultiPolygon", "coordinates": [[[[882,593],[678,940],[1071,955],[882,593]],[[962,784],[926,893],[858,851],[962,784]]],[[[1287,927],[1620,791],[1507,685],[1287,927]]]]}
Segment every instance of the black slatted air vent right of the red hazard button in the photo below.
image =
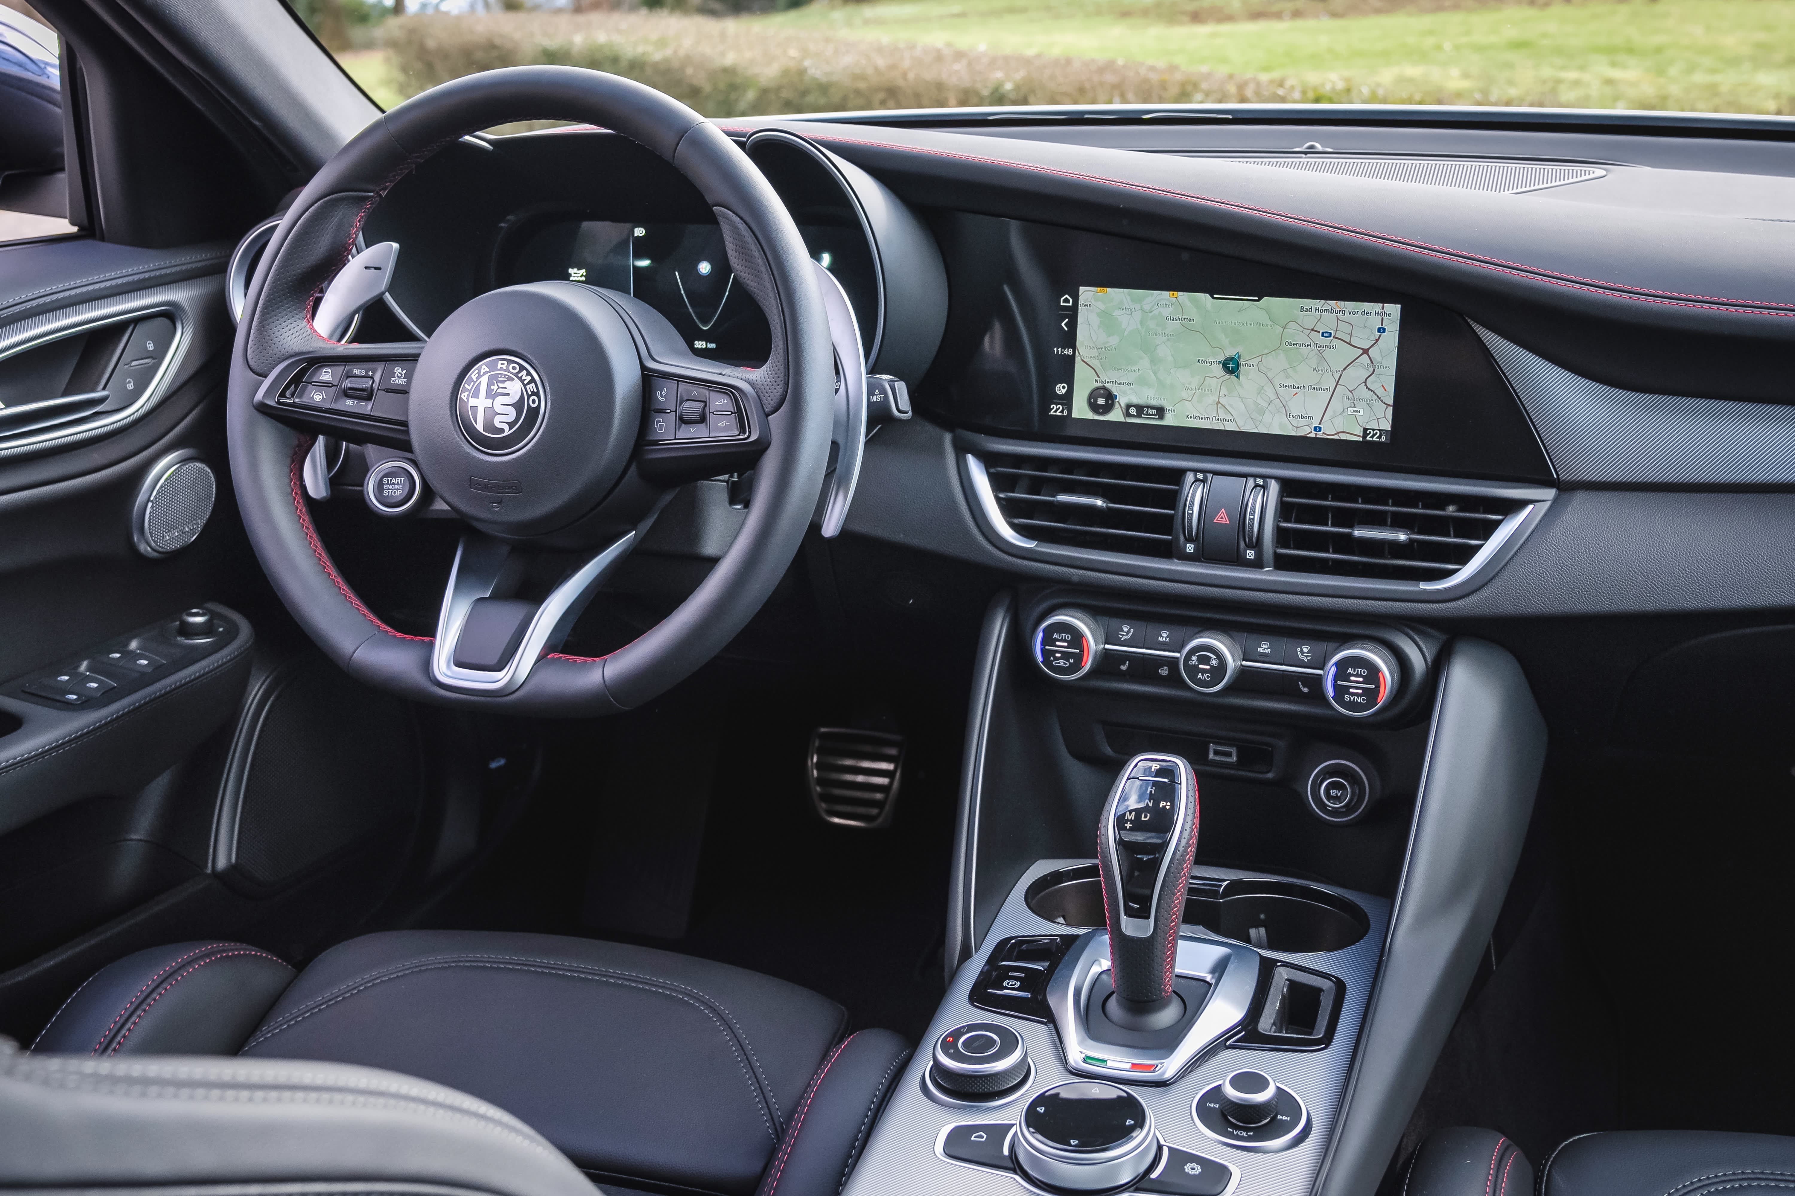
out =
{"type": "Polygon", "coordinates": [[[1519,506],[1470,494],[1285,481],[1274,560],[1285,573],[1438,582],[1470,564],[1519,506]]]}

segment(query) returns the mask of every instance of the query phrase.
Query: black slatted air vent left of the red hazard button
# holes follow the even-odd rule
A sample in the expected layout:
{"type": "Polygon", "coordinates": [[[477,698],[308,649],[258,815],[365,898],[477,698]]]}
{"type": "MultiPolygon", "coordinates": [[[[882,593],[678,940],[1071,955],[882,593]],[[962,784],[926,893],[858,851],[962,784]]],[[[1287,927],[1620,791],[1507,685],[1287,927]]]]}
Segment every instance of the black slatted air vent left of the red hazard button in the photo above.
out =
{"type": "Polygon", "coordinates": [[[998,510],[1020,535],[1133,557],[1172,555],[1172,512],[1185,479],[1176,469],[993,453],[985,472],[998,510]]]}

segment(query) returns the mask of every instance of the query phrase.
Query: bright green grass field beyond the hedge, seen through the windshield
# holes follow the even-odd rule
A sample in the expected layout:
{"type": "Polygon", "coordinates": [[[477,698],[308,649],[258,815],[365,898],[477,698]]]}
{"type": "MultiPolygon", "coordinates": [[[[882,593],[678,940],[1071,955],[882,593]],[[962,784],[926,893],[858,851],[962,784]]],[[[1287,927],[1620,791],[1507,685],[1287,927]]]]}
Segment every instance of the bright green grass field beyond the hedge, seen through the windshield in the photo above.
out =
{"type": "Polygon", "coordinates": [[[1215,9],[1192,0],[867,0],[752,22],[1273,75],[1391,101],[1795,113],[1795,0],[1601,0],[1332,20],[1217,20],[1215,9]]]}

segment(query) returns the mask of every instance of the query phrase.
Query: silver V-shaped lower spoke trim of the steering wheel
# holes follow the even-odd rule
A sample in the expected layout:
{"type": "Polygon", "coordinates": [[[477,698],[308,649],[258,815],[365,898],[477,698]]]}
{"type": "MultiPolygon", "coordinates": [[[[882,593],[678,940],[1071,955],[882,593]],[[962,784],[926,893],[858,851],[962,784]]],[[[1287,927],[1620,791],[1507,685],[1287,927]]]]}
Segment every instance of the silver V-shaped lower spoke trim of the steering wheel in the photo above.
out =
{"type": "Polygon", "coordinates": [[[436,643],[431,646],[431,681],[460,693],[503,695],[522,686],[542,652],[551,643],[560,643],[565,638],[573,621],[585,609],[585,603],[591,602],[592,591],[630,553],[630,548],[635,544],[635,532],[628,532],[614,541],[610,548],[587,560],[585,566],[542,600],[542,605],[537,607],[535,616],[530,620],[524,641],[499,672],[461,668],[454,663],[454,648],[461,639],[461,625],[467,623],[467,614],[474,607],[474,600],[492,594],[492,587],[499,580],[499,569],[510,555],[510,546],[497,541],[474,541],[474,551],[468,550],[468,537],[463,537],[454,553],[454,567],[449,571],[449,589],[443,593],[442,614],[436,618],[436,643]]]}

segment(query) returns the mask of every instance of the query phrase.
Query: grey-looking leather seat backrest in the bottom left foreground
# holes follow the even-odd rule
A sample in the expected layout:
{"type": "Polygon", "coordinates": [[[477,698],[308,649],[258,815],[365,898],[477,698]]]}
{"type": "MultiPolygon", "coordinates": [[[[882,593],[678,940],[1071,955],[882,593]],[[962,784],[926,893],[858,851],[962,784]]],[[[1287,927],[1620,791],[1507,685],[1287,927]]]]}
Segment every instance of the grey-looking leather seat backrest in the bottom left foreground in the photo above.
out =
{"type": "Polygon", "coordinates": [[[594,1192],[524,1122],[424,1079],[343,1063],[25,1054],[0,1038],[0,1192],[248,1183],[594,1192]]]}

